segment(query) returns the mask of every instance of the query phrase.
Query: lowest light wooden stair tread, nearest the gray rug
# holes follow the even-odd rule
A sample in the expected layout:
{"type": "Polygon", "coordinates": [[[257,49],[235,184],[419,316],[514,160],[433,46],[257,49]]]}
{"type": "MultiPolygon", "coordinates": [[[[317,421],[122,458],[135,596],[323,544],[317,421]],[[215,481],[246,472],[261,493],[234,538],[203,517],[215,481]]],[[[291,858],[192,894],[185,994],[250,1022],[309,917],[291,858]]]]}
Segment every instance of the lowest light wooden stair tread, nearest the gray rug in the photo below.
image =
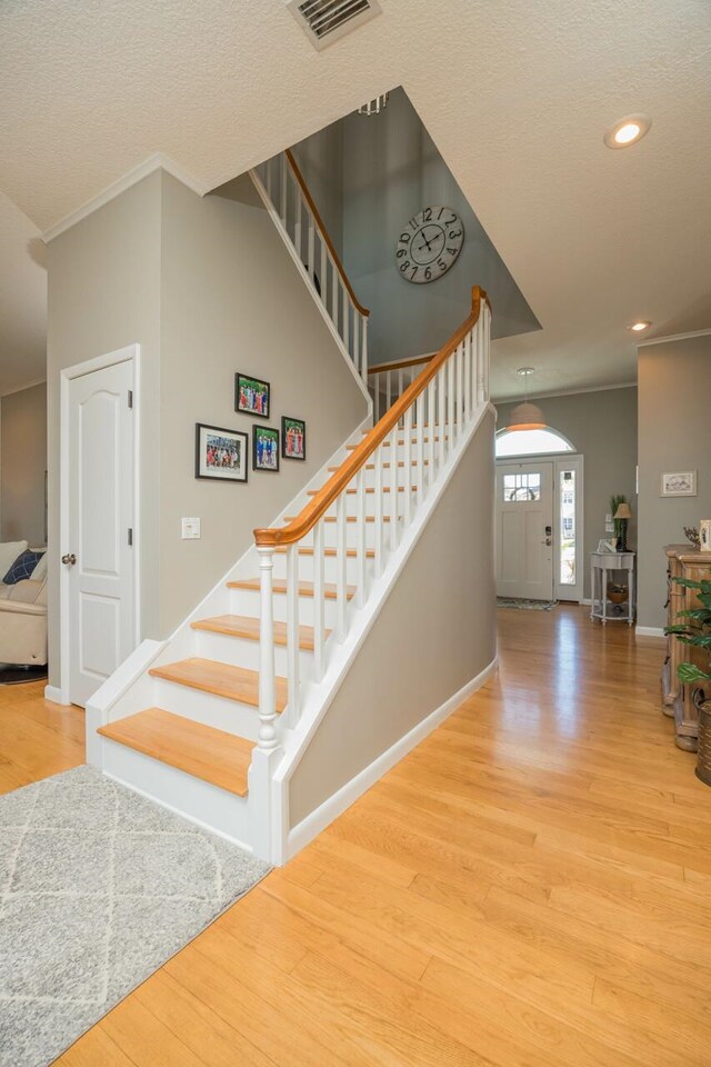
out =
{"type": "Polygon", "coordinates": [[[238,797],[247,796],[254,741],[162,708],[147,708],[102,726],[97,732],[238,797]]]}

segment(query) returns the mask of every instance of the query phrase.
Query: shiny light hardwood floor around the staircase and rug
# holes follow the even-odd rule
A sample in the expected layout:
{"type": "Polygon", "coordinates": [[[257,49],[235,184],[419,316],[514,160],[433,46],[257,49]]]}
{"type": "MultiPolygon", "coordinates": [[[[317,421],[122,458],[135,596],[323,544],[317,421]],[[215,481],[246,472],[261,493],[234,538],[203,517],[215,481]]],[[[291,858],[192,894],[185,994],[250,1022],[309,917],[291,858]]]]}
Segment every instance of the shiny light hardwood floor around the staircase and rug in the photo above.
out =
{"type": "MultiPolygon", "coordinates": [[[[500,612],[500,675],[62,1067],[708,1067],[711,790],[658,640],[500,612]]],[[[82,716],[0,690],[0,784],[82,716]]]]}

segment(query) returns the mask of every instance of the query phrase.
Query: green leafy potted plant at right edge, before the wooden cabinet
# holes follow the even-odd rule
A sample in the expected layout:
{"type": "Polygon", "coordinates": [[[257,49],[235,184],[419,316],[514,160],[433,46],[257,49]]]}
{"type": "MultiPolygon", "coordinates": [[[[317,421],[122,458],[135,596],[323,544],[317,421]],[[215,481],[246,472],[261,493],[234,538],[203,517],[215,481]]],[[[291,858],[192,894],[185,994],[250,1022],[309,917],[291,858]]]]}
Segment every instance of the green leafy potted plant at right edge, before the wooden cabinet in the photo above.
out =
{"type": "Polygon", "coordinates": [[[683,645],[700,648],[707,656],[707,670],[697,664],[679,664],[677,677],[688,686],[695,684],[692,691],[693,702],[699,711],[699,750],[697,755],[697,777],[711,786],[711,579],[694,581],[691,578],[674,578],[680,586],[693,589],[701,607],[680,611],[674,626],[664,627],[664,634],[673,634],[683,645]],[[704,690],[705,686],[705,690],[704,690]]]}

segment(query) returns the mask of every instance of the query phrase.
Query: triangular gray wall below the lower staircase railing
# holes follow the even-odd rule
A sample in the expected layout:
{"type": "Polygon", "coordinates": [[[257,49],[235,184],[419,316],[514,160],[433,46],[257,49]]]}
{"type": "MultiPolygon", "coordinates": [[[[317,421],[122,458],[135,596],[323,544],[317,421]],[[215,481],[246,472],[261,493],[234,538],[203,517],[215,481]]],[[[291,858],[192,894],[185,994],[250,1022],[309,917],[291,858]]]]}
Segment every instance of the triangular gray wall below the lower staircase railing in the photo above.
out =
{"type": "Polygon", "coordinates": [[[291,826],[493,660],[492,452],[488,416],[294,771],[291,826]]]}

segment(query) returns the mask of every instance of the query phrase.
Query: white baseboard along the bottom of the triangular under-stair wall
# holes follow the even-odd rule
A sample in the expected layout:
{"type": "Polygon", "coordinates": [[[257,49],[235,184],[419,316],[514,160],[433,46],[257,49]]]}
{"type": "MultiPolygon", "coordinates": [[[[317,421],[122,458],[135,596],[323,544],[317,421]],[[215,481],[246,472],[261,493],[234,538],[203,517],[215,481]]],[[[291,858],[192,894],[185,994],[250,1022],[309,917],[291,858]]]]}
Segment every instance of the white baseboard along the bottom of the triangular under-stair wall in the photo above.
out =
{"type": "Polygon", "coordinates": [[[372,764],[365,767],[360,774],[351,778],[338,792],[334,792],[328,800],[324,800],[314,811],[302,819],[293,829],[289,831],[287,844],[287,856],[291,859],[300,851],[304,845],[312,841],[313,838],[326,829],[333,819],[350,807],[354,800],[370,789],[382,776],[395,766],[408,752],[424,740],[428,734],[431,734],[441,722],[444,721],[457,708],[478,689],[489,680],[497,669],[498,657],[480,671],[475,678],[468,681],[465,686],[453,696],[440,705],[434,711],[431,711],[427,718],[418,722],[409,734],[399,738],[387,751],[381,752],[372,764]]]}

